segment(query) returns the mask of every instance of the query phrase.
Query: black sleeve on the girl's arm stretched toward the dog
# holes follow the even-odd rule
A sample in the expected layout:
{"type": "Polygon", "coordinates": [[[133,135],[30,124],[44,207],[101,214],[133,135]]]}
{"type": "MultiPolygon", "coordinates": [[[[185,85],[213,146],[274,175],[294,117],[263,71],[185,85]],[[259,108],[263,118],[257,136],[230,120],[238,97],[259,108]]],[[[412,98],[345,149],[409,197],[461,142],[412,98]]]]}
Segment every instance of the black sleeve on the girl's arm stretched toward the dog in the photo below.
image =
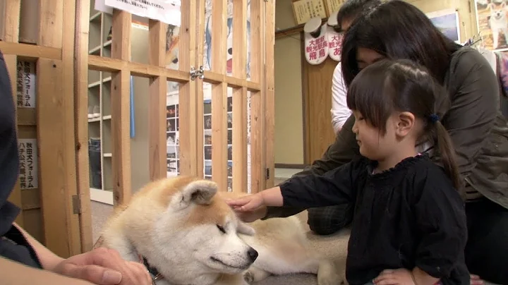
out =
{"type": "Polygon", "coordinates": [[[323,175],[294,176],[279,186],[284,206],[310,208],[350,203],[364,166],[363,160],[356,160],[323,175]]]}

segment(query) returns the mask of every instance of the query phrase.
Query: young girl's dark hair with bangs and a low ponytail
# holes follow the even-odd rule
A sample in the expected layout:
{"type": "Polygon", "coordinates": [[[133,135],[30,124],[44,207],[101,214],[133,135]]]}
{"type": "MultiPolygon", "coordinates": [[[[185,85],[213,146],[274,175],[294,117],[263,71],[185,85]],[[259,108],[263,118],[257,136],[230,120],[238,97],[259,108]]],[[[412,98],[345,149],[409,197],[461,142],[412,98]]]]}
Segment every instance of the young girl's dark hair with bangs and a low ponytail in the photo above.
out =
{"type": "Polygon", "coordinates": [[[437,114],[444,87],[427,68],[406,59],[384,59],[363,69],[349,86],[347,105],[358,111],[371,126],[386,132],[387,120],[395,111],[409,111],[423,123],[422,138],[437,143],[440,157],[454,187],[461,180],[452,139],[437,114]]]}

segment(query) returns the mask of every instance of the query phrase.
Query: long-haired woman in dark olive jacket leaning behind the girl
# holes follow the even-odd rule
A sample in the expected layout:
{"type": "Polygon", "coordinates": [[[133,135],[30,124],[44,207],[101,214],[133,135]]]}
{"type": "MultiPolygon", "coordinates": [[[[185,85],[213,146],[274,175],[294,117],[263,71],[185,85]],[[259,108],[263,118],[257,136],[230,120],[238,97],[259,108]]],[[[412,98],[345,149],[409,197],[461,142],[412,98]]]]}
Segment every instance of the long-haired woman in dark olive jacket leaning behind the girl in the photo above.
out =
{"type": "MultiPolygon", "coordinates": [[[[438,109],[454,143],[467,194],[466,264],[485,280],[508,284],[508,127],[499,111],[494,71],[478,51],[448,40],[418,8],[399,0],[366,12],[346,32],[346,86],[361,68],[384,57],[417,61],[446,87],[448,94],[438,109]]],[[[308,172],[325,173],[358,154],[353,121],[346,121],[336,142],[308,172]]],[[[438,155],[432,146],[423,150],[438,155]]],[[[298,210],[260,209],[246,219],[284,217],[298,210]]]]}

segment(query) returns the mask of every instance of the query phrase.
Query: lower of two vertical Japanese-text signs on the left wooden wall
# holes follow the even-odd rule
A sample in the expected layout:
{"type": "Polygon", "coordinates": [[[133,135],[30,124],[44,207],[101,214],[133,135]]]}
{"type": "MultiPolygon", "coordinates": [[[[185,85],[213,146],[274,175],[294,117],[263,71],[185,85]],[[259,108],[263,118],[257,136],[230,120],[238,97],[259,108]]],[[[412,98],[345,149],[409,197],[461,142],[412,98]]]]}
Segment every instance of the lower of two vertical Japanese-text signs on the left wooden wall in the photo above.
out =
{"type": "Polygon", "coordinates": [[[18,139],[18,152],[20,160],[19,180],[21,189],[39,188],[37,166],[37,139],[18,139]]]}

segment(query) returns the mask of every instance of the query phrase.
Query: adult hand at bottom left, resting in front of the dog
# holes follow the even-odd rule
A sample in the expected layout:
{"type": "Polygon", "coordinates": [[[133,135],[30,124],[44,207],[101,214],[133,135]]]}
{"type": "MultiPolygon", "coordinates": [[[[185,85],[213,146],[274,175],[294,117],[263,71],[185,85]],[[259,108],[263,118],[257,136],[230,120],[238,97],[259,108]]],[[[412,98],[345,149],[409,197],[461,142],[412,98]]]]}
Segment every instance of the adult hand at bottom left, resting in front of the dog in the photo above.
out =
{"type": "Polygon", "coordinates": [[[152,285],[145,265],[123,260],[116,250],[107,248],[69,257],[53,271],[98,285],[152,285]]]}

